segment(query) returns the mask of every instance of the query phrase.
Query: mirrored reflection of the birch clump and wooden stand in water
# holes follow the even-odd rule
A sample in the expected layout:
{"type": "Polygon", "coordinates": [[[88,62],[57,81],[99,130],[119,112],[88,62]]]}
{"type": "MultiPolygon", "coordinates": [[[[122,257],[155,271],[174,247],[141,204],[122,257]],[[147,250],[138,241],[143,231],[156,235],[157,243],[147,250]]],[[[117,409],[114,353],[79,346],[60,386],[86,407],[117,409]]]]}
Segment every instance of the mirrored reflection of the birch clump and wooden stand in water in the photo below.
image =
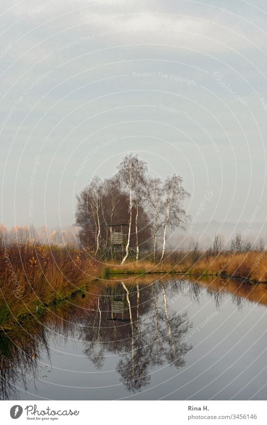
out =
{"type": "Polygon", "coordinates": [[[165,361],[177,368],[185,364],[191,346],[183,335],[190,325],[186,313],[170,310],[163,282],[141,290],[138,284],[114,283],[97,305],[81,335],[90,341],[84,352],[97,368],[104,364],[104,351],[118,354],[117,371],[127,389],[147,385],[153,366],[165,361]]]}

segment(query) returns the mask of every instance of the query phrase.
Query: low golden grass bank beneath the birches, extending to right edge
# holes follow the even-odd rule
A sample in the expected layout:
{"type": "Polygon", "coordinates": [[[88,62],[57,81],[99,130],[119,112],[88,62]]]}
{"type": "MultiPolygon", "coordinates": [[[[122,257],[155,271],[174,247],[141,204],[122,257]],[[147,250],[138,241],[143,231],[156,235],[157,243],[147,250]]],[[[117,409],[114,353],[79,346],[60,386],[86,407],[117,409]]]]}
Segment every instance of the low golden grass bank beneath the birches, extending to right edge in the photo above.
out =
{"type": "Polygon", "coordinates": [[[215,275],[230,278],[267,282],[266,252],[222,252],[218,255],[200,253],[192,258],[190,253],[177,254],[176,259],[166,258],[162,262],[147,260],[127,262],[123,265],[107,263],[105,276],[112,274],[179,273],[184,275],[215,275]]]}

